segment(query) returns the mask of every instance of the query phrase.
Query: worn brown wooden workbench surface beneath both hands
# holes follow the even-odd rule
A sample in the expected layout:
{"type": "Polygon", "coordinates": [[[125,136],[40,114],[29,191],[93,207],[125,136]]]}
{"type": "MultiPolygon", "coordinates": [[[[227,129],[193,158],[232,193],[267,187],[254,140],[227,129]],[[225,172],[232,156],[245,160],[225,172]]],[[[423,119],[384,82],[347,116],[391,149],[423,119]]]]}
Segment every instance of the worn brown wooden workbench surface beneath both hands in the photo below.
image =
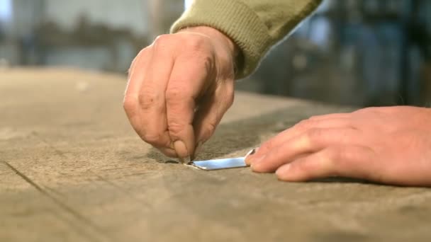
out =
{"type": "MultiPolygon", "coordinates": [[[[0,70],[0,241],[431,241],[431,190],[198,171],[140,141],[124,76],[0,70]],[[413,240],[412,240],[413,238],[413,240]]],[[[340,108],[237,93],[200,159],[340,108]]]]}

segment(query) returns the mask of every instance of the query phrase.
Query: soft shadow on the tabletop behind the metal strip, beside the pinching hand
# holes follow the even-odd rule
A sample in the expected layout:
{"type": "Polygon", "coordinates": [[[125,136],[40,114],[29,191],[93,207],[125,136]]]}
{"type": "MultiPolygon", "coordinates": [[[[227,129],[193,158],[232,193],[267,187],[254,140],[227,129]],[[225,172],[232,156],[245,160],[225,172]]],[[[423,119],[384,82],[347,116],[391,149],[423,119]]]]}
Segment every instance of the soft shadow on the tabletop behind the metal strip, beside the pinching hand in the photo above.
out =
{"type": "MultiPolygon", "coordinates": [[[[201,154],[198,154],[196,159],[217,159],[235,151],[252,149],[259,146],[264,135],[279,133],[312,115],[333,112],[340,112],[340,107],[331,108],[318,103],[302,103],[244,120],[223,123],[218,126],[213,137],[203,145],[201,154]]],[[[177,163],[154,148],[150,150],[147,157],[159,163],[177,163]]]]}

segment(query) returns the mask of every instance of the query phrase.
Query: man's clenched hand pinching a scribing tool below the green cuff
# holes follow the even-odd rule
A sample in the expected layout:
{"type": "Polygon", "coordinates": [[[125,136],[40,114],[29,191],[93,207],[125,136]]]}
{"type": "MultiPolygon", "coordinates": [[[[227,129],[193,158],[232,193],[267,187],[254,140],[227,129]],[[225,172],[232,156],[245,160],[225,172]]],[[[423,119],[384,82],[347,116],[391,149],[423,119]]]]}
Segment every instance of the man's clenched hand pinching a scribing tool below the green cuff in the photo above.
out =
{"type": "Polygon", "coordinates": [[[124,109],[139,136],[189,161],[233,103],[235,45],[196,27],[159,36],[130,67],[124,109]]]}

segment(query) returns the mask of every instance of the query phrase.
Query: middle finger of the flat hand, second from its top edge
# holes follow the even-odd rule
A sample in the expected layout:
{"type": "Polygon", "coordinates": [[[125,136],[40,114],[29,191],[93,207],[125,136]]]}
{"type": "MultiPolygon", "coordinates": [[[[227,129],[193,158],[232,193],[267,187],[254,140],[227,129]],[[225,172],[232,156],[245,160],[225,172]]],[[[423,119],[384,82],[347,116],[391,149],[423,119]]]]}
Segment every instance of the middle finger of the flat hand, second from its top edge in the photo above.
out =
{"type": "Polygon", "coordinates": [[[318,152],[329,146],[356,144],[359,132],[351,128],[310,129],[274,147],[261,159],[251,163],[253,171],[273,172],[304,154],[318,152]]]}

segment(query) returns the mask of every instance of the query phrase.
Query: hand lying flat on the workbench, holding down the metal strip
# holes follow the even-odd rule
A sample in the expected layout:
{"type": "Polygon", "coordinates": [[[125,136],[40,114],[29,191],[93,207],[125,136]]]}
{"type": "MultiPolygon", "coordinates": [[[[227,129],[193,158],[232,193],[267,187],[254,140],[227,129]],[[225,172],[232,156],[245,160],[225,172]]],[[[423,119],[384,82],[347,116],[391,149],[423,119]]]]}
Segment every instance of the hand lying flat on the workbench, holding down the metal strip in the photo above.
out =
{"type": "Polygon", "coordinates": [[[280,180],[342,176],[393,185],[431,185],[431,109],[365,108],[311,117],[247,157],[280,180]]]}

